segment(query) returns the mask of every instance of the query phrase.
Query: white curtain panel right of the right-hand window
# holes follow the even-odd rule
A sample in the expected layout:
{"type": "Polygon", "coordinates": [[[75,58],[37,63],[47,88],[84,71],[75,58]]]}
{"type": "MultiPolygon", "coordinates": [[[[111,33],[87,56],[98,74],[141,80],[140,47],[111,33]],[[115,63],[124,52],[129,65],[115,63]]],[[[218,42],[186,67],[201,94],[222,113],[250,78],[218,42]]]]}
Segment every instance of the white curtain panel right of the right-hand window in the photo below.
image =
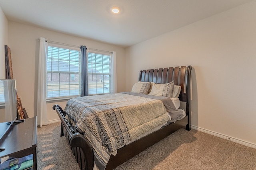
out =
{"type": "Polygon", "coordinates": [[[116,85],[116,52],[112,51],[111,57],[111,89],[110,93],[117,93],[117,85],[116,85]]]}

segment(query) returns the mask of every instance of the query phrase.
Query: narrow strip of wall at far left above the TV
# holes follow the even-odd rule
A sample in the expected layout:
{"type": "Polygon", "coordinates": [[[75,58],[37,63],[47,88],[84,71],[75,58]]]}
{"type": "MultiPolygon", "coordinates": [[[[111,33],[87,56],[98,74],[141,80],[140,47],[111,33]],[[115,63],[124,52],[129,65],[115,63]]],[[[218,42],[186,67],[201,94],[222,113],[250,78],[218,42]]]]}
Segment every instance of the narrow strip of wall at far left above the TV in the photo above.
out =
{"type": "Polygon", "coordinates": [[[8,45],[8,20],[0,7],[0,79],[5,79],[4,45],[8,45]]]}

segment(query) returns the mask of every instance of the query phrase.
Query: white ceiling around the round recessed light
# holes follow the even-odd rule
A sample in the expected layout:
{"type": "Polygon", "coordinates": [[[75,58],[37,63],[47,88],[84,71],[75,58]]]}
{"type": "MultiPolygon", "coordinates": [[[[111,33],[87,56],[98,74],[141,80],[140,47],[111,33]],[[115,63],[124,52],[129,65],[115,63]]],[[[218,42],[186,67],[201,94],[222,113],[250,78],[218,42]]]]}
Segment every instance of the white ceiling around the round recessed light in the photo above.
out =
{"type": "Polygon", "coordinates": [[[129,47],[250,1],[0,0],[0,7],[9,21],[129,47]]]}

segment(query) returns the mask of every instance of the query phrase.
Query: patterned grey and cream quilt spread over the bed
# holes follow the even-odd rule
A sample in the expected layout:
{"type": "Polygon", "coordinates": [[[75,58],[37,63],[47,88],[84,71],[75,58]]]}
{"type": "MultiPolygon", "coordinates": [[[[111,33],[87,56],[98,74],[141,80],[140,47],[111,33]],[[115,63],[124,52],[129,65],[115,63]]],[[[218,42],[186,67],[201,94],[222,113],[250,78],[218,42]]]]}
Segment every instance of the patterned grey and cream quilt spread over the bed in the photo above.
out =
{"type": "Polygon", "coordinates": [[[73,98],[65,111],[92,145],[100,170],[117,149],[170,119],[161,100],[123,93],[73,98]]]}

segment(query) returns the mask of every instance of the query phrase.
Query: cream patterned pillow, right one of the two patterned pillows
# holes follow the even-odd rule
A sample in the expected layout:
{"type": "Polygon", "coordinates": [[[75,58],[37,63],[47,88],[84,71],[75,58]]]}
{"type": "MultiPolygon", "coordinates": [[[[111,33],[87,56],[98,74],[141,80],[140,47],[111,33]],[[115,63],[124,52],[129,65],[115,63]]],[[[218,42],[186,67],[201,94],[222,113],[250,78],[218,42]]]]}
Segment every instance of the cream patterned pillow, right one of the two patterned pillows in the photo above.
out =
{"type": "Polygon", "coordinates": [[[153,83],[149,95],[164,96],[164,97],[172,98],[173,87],[174,87],[174,81],[166,84],[153,83]]]}

